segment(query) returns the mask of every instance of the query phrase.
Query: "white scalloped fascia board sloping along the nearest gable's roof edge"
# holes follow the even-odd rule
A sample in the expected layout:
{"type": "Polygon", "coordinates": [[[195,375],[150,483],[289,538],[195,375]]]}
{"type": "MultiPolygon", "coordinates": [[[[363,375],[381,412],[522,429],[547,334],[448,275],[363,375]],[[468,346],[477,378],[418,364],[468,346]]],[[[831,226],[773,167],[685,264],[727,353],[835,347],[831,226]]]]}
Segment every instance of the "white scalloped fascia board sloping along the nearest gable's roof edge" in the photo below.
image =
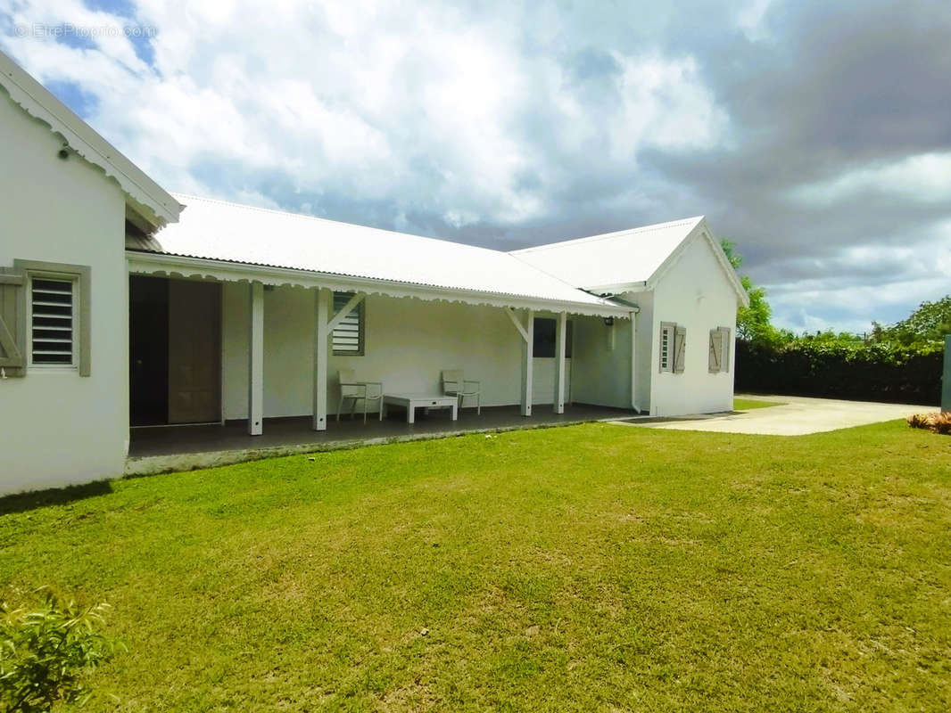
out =
{"type": "Polygon", "coordinates": [[[48,125],[69,148],[119,183],[127,202],[148,222],[155,226],[178,222],[182,210],[178,201],[2,51],[0,86],[17,106],[48,125]]]}

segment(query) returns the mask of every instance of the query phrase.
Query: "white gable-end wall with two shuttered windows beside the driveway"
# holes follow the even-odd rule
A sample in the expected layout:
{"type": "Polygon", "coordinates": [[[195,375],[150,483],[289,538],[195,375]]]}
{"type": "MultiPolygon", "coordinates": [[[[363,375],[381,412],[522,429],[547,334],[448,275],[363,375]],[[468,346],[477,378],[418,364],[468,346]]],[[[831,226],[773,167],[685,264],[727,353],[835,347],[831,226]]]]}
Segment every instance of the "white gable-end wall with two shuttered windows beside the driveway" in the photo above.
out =
{"type": "Polygon", "coordinates": [[[693,241],[658,282],[653,296],[650,414],[709,414],[733,408],[733,345],[729,371],[710,374],[709,331],[736,332],[736,292],[704,240],[693,241]],[[661,322],[687,327],[684,372],[661,373],[657,342],[661,322]]]}

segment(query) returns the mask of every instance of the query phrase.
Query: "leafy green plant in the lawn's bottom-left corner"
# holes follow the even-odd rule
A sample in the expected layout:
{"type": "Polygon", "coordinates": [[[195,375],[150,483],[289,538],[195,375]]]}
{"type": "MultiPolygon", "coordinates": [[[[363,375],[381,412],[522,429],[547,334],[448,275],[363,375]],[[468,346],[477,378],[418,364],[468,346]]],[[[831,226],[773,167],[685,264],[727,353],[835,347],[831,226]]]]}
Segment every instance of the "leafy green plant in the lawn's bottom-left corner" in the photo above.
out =
{"type": "MultiPolygon", "coordinates": [[[[84,678],[117,645],[97,632],[108,605],[79,607],[41,588],[40,603],[0,602],[0,709],[39,713],[53,703],[82,705],[91,695],[84,678]]],[[[9,592],[22,599],[19,591],[9,592]]]]}

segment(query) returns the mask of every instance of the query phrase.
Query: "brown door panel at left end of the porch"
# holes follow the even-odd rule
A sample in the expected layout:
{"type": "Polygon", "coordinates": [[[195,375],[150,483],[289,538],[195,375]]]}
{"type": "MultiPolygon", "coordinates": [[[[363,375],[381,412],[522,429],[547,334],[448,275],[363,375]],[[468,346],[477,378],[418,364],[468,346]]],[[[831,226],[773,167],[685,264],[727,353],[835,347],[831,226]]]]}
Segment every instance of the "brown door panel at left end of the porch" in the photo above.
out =
{"type": "Polygon", "coordinates": [[[221,316],[219,283],[169,280],[169,423],[221,420],[221,316]]]}

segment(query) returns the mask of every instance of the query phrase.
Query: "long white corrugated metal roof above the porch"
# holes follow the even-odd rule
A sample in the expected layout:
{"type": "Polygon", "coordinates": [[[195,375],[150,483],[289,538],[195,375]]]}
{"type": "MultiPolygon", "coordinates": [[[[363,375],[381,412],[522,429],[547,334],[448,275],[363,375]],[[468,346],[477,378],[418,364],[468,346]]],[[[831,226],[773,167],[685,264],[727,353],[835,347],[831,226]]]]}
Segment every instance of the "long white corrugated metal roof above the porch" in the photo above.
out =
{"type": "Polygon", "coordinates": [[[616,307],[498,250],[174,194],[185,209],[146,243],[165,255],[616,307]]]}

